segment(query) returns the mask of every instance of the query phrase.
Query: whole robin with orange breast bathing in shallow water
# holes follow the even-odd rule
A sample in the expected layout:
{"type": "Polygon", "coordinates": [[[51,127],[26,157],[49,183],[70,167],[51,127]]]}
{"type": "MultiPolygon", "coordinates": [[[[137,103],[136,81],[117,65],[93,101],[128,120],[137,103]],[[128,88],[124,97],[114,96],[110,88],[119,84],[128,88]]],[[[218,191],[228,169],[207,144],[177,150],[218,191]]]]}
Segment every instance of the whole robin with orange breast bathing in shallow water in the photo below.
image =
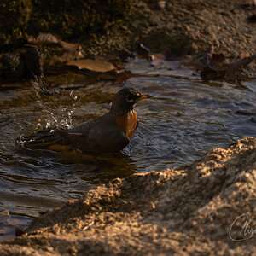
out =
{"type": "Polygon", "coordinates": [[[67,130],[39,131],[23,143],[28,148],[62,144],[94,154],[119,152],[129,144],[138,125],[135,103],[149,97],[124,88],[113,97],[110,111],[101,117],[67,130]]]}

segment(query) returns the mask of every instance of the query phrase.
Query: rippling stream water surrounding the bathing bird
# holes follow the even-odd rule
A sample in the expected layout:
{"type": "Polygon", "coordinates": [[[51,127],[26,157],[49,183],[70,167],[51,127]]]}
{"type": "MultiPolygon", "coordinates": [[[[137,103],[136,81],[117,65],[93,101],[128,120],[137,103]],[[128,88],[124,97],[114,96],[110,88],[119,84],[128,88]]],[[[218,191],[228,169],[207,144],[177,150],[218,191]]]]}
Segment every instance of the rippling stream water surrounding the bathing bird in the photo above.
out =
{"type": "Polygon", "coordinates": [[[14,226],[24,228],[39,212],[60,207],[114,177],[189,164],[212,148],[256,136],[256,80],[204,83],[197,73],[166,61],[152,66],[134,60],[127,68],[137,76],[125,86],[154,98],[137,104],[139,126],[123,154],[108,157],[71,149],[32,151],[16,140],[40,127],[68,128],[107,113],[124,84],[88,84],[85,77],[69,74],[46,79],[46,84],[63,79],[78,87],[53,96],[38,90],[41,82],[0,91],[0,240],[14,234],[14,226]]]}

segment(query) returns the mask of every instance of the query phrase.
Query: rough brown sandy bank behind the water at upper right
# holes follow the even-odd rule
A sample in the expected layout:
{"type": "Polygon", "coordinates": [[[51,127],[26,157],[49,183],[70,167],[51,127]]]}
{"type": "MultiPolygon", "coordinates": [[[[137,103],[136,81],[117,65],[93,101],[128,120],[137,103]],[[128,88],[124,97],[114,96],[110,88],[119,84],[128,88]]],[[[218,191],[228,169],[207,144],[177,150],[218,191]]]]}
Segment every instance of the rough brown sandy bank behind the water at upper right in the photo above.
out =
{"type": "MultiPolygon", "coordinates": [[[[160,1],[163,2],[163,1],[160,1]]],[[[170,0],[160,8],[159,1],[133,1],[125,19],[108,28],[94,42],[95,49],[122,49],[137,40],[154,51],[190,45],[193,53],[213,46],[229,57],[256,52],[255,24],[248,22],[243,1],[170,0]]]]}

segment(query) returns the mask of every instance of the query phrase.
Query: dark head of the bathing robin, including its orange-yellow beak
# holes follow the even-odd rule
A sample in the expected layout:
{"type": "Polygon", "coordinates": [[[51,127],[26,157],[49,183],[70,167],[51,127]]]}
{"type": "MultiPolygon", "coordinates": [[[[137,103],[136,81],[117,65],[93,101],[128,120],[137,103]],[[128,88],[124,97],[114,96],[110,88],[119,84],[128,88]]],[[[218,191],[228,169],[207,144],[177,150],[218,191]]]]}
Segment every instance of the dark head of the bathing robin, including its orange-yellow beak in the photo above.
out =
{"type": "Polygon", "coordinates": [[[129,112],[134,104],[143,99],[150,98],[148,94],[141,94],[139,91],[132,88],[124,88],[113,97],[112,111],[129,112]]]}

